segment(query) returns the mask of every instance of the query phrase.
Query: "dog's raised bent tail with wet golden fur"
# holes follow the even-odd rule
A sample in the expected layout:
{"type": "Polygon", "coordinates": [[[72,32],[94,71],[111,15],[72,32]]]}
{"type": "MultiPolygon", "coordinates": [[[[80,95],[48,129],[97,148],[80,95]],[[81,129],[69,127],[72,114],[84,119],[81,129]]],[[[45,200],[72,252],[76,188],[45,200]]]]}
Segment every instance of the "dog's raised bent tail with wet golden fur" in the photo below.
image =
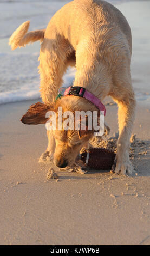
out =
{"type": "Polygon", "coordinates": [[[30,21],[26,21],[20,25],[16,31],[9,38],[9,45],[11,49],[15,50],[17,47],[25,47],[25,45],[40,40],[44,40],[45,29],[30,31],[27,33],[30,26],[30,21]]]}

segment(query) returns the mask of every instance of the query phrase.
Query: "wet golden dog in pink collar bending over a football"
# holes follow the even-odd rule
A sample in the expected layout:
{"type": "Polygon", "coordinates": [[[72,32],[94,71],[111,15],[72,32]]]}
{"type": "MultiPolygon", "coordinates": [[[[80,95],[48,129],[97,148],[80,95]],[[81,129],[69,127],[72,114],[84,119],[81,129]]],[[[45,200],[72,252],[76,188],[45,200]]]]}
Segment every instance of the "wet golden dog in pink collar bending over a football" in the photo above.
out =
{"type": "MultiPolygon", "coordinates": [[[[135,97],[131,82],[131,29],[125,17],[112,4],[100,0],[74,0],[52,17],[44,30],[28,32],[29,21],[12,34],[14,50],[40,40],[40,78],[43,103],[30,106],[23,116],[25,124],[43,124],[48,111],[98,111],[83,97],[68,95],[55,102],[62,77],[69,65],[76,66],[74,86],[94,94],[100,101],[110,95],[118,104],[119,138],[115,173],[131,174],[130,137],[135,115],[135,97]]],[[[69,85],[68,85],[69,86],[69,85]]],[[[64,168],[75,162],[79,151],[93,136],[89,130],[48,131],[48,148],[43,160],[52,158],[64,168]]]]}

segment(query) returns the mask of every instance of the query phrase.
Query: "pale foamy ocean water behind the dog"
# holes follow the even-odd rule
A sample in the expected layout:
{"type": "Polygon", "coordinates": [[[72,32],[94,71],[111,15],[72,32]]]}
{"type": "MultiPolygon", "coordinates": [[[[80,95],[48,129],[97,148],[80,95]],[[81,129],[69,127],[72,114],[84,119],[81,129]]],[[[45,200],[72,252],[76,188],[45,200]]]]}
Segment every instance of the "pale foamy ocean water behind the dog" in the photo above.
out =
{"type": "MultiPolygon", "coordinates": [[[[9,36],[24,21],[30,29],[45,28],[65,0],[1,0],[0,1],[0,104],[36,100],[40,97],[38,55],[40,43],[11,51],[9,36]]],[[[132,80],[136,99],[150,105],[150,1],[110,0],[126,16],[133,36],[132,80]],[[148,32],[149,31],[149,32],[148,32]]],[[[64,75],[64,85],[74,80],[75,68],[64,75]]]]}

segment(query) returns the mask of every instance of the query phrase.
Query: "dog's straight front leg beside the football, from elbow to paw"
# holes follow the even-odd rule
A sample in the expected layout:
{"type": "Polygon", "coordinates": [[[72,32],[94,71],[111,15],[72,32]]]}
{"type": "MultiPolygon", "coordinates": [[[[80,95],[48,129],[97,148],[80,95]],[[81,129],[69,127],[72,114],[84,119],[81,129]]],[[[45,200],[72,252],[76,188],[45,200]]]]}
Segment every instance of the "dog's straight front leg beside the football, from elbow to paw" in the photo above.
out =
{"type": "Polygon", "coordinates": [[[129,160],[129,145],[135,115],[134,95],[131,99],[127,99],[127,102],[118,101],[118,107],[119,138],[115,159],[115,173],[132,174],[133,167],[129,160]]]}

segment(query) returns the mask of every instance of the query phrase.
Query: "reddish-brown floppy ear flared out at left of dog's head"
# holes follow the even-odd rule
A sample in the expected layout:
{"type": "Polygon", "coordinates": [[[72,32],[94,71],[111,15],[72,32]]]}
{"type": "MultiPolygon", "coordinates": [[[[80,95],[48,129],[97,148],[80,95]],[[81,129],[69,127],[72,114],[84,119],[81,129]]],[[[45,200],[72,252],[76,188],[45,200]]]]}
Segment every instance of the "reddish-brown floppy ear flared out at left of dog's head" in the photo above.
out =
{"type": "Polygon", "coordinates": [[[49,119],[46,117],[46,113],[51,111],[51,109],[51,105],[37,102],[30,106],[27,113],[23,115],[21,121],[23,124],[45,124],[49,119]]]}

